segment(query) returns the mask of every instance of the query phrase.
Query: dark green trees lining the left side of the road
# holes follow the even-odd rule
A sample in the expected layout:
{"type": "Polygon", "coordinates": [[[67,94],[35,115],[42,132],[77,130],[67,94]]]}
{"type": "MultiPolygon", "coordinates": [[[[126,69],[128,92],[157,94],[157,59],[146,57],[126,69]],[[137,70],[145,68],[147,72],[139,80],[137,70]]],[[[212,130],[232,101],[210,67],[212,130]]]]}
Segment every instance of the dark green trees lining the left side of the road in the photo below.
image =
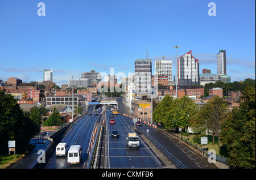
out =
{"type": "MultiPolygon", "coordinates": [[[[0,154],[8,152],[8,141],[15,140],[16,152],[22,152],[30,139],[40,132],[44,107],[30,109],[24,113],[17,100],[10,94],[0,91],[0,154]]],[[[43,126],[60,126],[64,122],[56,108],[43,126]]]]}

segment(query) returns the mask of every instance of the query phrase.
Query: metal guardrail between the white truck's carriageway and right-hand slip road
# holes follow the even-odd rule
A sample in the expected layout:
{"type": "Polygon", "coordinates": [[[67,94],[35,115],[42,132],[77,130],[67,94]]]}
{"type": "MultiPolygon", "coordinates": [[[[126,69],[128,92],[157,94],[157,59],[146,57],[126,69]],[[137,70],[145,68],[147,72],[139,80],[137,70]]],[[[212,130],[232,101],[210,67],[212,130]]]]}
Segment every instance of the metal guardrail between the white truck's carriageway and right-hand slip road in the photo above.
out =
{"type": "Polygon", "coordinates": [[[139,131],[141,131],[152,143],[155,144],[156,147],[160,149],[168,157],[179,169],[188,169],[184,164],[182,164],[177,158],[172,155],[172,153],[168,152],[166,148],[164,148],[161,144],[159,144],[154,138],[152,138],[146,131],[144,131],[141,127],[137,127],[139,131]]]}

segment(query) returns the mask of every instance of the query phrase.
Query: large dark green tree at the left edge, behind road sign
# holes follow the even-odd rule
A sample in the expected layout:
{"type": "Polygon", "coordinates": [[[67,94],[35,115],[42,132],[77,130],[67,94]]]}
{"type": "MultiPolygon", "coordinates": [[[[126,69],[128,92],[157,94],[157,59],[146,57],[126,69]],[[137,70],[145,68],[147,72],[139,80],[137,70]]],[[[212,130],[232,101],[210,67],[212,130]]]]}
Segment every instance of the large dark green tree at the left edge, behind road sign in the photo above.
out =
{"type": "Polygon", "coordinates": [[[40,128],[28,118],[15,98],[0,91],[0,152],[6,153],[8,140],[15,140],[17,151],[23,150],[40,128]]]}

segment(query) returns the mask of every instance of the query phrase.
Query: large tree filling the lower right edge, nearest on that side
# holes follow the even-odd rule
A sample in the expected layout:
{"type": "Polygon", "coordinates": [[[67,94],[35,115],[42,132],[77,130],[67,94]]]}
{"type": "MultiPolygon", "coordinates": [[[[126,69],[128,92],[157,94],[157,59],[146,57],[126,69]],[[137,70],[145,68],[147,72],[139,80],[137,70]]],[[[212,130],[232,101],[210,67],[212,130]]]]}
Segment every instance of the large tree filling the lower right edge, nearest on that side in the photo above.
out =
{"type": "Polygon", "coordinates": [[[228,165],[255,168],[255,87],[247,86],[240,108],[224,121],[221,140],[227,146],[228,165]]]}

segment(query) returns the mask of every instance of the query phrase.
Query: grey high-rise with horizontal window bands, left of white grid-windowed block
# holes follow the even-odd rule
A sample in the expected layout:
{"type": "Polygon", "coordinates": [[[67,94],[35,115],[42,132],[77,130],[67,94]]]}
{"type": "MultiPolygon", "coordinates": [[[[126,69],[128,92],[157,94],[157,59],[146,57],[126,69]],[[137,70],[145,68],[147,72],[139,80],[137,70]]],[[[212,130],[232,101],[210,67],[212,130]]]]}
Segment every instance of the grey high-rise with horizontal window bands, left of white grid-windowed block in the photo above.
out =
{"type": "Polygon", "coordinates": [[[151,92],[152,59],[136,59],[134,87],[135,98],[142,100],[142,96],[148,96],[151,92]]]}

